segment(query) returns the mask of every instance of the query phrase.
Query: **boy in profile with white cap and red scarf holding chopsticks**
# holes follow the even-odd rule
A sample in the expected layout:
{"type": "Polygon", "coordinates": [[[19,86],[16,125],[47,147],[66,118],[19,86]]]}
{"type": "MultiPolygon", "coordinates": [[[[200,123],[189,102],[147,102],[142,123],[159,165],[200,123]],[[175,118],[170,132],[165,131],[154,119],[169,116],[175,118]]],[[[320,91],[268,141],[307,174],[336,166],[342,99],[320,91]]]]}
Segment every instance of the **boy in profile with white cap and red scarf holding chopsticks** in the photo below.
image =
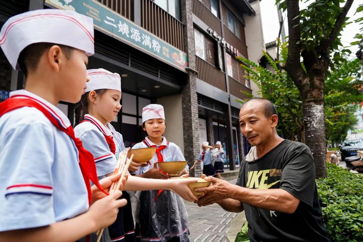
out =
{"type": "Polygon", "coordinates": [[[0,46],[26,75],[25,90],[0,104],[0,241],[76,241],[110,225],[126,204],[121,191],[104,190],[118,177],[98,181],[92,154],[56,107],[85,92],[93,20],[25,12],[6,21],[0,46]]]}

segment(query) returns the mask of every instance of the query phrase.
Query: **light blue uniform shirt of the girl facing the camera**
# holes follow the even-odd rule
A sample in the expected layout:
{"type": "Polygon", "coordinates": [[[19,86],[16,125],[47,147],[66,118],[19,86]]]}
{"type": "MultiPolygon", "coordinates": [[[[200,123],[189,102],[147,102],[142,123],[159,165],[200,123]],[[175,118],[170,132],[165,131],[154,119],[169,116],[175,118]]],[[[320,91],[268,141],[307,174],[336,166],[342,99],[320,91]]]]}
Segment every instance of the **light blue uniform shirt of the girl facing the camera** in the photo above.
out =
{"type": "MultiPolygon", "coordinates": [[[[181,153],[179,146],[172,142],[168,142],[165,137],[162,137],[162,138],[163,138],[163,141],[162,141],[161,145],[167,146],[165,149],[160,151],[160,153],[163,156],[163,160],[164,161],[179,161],[179,160],[185,161],[185,158],[183,156],[183,153],[181,153]]],[[[148,137],[146,137],[144,141],[137,143],[131,149],[147,148],[147,147],[154,146],[154,145],[155,144],[153,142],[151,142],[148,137]]],[[[156,146],[156,148],[159,148],[160,145],[155,145],[155,146],[156,146]]],[[[158,162],[158,156],[156,153],[155,153],[154,157],[152,157],[152,159],[151,159],[151,165],[148,165],[145,167],[139,167],[139,169],[136,172],[132,172],[131,174],[141,175],[141,174],[147,172],[148,170],[150,170],[151,168],[153,168],[155,162],[158,162]]],[[[188,164],[185,166],[185,170],[189,171],[188,164]]]]}

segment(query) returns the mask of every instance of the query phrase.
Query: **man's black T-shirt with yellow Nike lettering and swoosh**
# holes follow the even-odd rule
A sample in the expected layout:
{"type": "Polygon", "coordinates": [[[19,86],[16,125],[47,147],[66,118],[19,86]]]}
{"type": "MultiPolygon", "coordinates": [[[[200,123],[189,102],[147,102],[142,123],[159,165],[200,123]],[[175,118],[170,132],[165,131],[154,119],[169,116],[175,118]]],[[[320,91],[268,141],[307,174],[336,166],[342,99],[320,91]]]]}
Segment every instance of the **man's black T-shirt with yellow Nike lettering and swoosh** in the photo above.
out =
{"type": "Polygon", "coordinates": [[[282,141],[263,157],[241,163],[237,185],[251,189],[284,189],[300,199],[293,214],[243,203],[250,241],[330,241],[322,224],[310,149],[282,141]]]}

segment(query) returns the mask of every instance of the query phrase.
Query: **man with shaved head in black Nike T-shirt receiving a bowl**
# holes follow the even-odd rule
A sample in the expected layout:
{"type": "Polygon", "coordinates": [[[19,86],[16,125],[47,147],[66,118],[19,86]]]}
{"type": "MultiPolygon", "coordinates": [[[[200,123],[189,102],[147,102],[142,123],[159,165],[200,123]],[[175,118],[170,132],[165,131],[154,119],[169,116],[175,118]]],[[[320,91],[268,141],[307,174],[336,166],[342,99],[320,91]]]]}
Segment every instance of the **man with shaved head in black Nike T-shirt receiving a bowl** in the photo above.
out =
{"type": "Polygon", "coordinates": [[[331,241],[322,224],[310,149],[276,133],[272,102],[253,98],[240,111],[241,132],[253,146],[241,162],[236,185],[214,177],[199,206],[218,203],[245,211],[250,241],[331,241]]]}

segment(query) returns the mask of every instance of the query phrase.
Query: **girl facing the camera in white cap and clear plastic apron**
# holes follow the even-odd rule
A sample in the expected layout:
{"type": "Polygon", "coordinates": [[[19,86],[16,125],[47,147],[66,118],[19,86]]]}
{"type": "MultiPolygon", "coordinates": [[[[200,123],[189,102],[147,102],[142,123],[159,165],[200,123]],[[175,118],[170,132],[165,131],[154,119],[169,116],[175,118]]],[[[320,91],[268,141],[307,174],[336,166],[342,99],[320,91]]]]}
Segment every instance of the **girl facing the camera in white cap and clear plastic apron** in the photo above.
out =
{"type": "MultiPolygon", "coordinates": [[[[142,128],[147,132],[147,137],[144,141],[134,145],[132,149],[156,147],[156,153],[151,159],[151,165],[139,167],[132,174],[154,178],[149,180],[167,179],[168,176],[158,169],[156,162],[185,161],[185,158],[179,146],[168,142],[166,137],[162,136],[166,128],[163,106],[150,104],[144,107],[142,122],[142,128]]],[[[188,165],[179,176],[189,176],[188,165]]],[[[141,192],[136,218],[135,232],[137,232],[138,241],[189,241],[188,214],[183,199],[175,193],[165,190],[141,192]]]]}

